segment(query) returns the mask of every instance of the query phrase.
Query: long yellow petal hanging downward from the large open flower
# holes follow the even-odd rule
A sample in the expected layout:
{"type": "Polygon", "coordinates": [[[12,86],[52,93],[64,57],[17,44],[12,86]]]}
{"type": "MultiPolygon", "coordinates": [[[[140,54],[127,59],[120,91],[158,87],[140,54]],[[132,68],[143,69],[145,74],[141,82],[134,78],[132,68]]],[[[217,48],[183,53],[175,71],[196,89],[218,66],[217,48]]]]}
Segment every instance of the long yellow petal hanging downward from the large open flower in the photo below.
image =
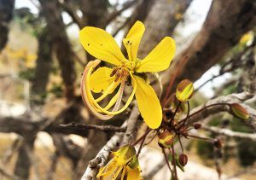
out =
{"type": "MultiPolygon", "coordinates": [[[[135,96],[140,113],[142,113],[145,123],[151,129],[160,126],[162,120],[162,109],[160,101],[156,96],[154,89],[147,84],[143,78],[134,76],[137,82],[135,96]]],[[[134,85],[134,84],[132,84],[134,85]]]]}

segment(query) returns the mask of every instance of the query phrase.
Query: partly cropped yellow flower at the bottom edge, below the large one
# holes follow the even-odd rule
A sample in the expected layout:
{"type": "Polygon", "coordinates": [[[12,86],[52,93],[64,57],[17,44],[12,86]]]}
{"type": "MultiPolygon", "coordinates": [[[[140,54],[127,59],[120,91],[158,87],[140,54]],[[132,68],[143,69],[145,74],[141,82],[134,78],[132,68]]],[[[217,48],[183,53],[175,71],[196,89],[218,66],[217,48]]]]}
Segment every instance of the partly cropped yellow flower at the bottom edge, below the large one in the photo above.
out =
{"type": "Polygon", "coordinates": [[[127,180],[141,179],[135,148],[125,145],[117,152],[113,152],[113,159],[100,169],[97,177],[101,180],[118,178],[123,180],[124,177],[127,180]]]}

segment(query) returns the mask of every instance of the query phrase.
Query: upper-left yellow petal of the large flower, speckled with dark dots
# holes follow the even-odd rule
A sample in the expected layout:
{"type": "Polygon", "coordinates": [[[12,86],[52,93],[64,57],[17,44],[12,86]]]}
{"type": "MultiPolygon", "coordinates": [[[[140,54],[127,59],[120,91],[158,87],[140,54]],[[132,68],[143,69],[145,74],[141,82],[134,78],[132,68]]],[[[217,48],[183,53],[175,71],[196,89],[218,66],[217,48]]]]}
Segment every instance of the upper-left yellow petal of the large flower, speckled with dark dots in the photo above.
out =
{"type": "Polygon", "coordinates": [[[86,26],[79,33],[80,43],[92,56],[114,65],[127,61],[113,37],[104,30],[86,26]]]}

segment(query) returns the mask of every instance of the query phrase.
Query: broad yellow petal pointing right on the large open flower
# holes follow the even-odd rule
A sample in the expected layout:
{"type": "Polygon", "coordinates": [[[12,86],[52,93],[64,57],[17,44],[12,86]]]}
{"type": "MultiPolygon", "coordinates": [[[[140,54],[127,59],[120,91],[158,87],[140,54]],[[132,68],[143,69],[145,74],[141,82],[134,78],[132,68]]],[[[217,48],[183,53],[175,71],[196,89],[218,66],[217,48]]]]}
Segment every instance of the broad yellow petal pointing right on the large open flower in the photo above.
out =
{"type": "Polygon", "coordinates": [[[136,72],[160,72],[170,66],[175,55],[175,41],[164,38],[142,61],[137,64],[136,72]]]}

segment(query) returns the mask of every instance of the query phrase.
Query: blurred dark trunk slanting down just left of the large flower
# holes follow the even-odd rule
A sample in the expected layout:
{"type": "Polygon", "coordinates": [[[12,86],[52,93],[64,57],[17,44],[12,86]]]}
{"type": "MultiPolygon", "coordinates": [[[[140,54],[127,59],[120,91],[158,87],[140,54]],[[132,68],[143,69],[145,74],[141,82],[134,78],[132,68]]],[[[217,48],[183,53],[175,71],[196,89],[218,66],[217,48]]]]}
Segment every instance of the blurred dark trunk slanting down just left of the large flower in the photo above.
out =
{"type": "Polygon", "coordinates": [[[56,57],[61,67],[61,76],[65,84],[67,100],[74,97],[74,70],[73,50],[67,38],[65,25],[61,17],[60,4],[52,0],[40,0],[42,13],[49,27],[49,36],[52,39],[56,57]]]}

